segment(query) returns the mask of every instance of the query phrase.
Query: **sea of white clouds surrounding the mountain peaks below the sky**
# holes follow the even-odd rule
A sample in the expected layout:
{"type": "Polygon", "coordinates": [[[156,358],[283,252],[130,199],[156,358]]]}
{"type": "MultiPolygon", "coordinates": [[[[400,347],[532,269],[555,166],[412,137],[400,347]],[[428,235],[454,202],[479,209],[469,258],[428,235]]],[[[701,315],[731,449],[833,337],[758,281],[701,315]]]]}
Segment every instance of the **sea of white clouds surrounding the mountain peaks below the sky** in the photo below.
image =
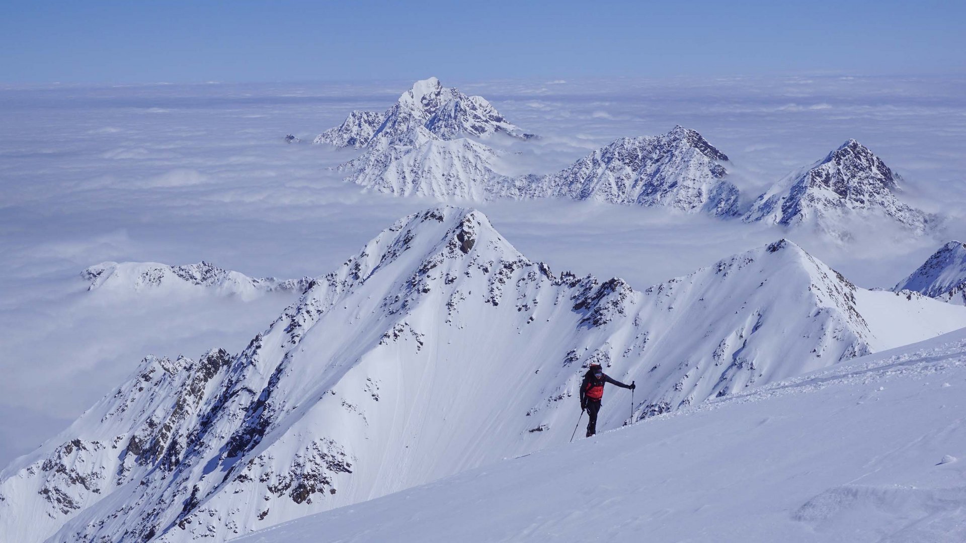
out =
{"type": "MultiPolygon", "coordinates": [[[[430,74],[427,74],[427,76],[430,74]]],[[[559,201],[482,209],[554,271],[636,288],[781,237],[863,287],[890,287],[966,239],[966,78],[720,77],[443,81],[540,134],[502,142],[506,173],[550,173],[620,136],[674,125],[731,158],[748,198],[848,138],[947,215],[934,236],[879,226],[850,243],[660,210],[559,201]]],[[[251,276],[329,272],[404,214],[437,202],[362,192],[310,145],[352,109],[383,111],[412,81],[0,86],[0,466],[66,427],[148,354],[238,352],[295,295],[242,301],[87,292],[102,261],[201,260],[251,276]],[[286,144],[293,133],[301,144],[286,144]]]]}

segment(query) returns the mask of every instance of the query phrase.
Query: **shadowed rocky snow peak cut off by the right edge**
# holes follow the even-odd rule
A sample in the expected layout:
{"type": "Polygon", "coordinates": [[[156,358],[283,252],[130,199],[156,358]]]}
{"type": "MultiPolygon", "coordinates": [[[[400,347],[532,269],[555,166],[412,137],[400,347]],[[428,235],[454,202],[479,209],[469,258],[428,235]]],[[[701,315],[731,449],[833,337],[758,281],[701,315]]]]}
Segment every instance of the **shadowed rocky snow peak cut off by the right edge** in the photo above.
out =
{"type": "Polygon", "coordinates": [[[966,243],[946,243],[893,290],[966,305],[966,243]]]}

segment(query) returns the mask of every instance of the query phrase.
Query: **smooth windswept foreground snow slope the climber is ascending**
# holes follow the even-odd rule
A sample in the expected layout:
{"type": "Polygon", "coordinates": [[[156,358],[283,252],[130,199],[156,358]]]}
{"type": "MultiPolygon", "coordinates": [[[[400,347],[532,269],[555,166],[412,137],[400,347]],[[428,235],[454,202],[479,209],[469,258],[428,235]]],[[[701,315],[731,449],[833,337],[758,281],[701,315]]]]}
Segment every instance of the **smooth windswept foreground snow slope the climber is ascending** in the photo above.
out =
{"type": "Polygon", "coordinates": [[[961,329],[237,541],[958,543],[964,389],[961,329]]]}

